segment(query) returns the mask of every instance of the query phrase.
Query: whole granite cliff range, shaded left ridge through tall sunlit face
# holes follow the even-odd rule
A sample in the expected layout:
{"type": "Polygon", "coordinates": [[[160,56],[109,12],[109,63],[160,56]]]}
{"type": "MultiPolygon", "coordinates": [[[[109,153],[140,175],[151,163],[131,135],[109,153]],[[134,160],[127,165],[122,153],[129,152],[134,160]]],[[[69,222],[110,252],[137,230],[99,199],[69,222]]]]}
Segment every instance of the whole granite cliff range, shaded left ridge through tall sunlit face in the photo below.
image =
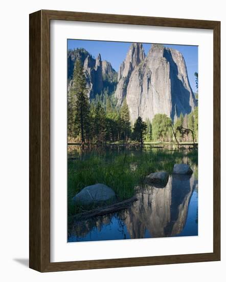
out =
{"type": "Polygon", "coordinates": [[[175,49],[152,44],[145,56],[142,44],[132,43],[118,74],[109,62],[102,61],[100,54],[95,59],[85,49],[69,50],[69,90],[78,58],[84,68],[89,98],[92,100],[105,90],[108,95],[115,91],[118,107],[126,99],[132,124],[138,116],[151,121],[158,113],[174,121],[180,113],[188,114],[197,106],[185,59],[175,49]]]}

